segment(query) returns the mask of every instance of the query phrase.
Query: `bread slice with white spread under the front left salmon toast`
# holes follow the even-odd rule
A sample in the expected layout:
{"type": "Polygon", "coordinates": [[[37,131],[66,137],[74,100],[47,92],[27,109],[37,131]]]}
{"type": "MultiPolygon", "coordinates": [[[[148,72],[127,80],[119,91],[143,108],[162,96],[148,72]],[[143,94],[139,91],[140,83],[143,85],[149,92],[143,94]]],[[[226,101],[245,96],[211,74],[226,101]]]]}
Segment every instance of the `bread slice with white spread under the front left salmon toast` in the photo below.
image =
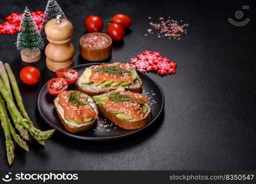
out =
{"type": "MultiPolygon", "coordinates": [[[[95,112],[98,115],[98,109],[97,109],[97,105],[94,102],[94,99],[92,99],[90,96],[88,96],[87,101],[90,102],[89,105],[91,105],[92,108],[94,108],[95,112]]],[[[58,114],[58,117],[62,121],[63,126],[65,126],[65,128],[70,132],[74,133],[74,132],[86,131],[87,129],[90,129],[95,125],[96,119],[94,119],[94,120],[92,120],[88,123],[82,123],[82,124],[79,124],[79,125],[67,121],[64,117],[64,110],[62,109],[62,107],[58,103],[58,96],[54,99],[54,107],[55,107],[55,110],[58,114]]]]}

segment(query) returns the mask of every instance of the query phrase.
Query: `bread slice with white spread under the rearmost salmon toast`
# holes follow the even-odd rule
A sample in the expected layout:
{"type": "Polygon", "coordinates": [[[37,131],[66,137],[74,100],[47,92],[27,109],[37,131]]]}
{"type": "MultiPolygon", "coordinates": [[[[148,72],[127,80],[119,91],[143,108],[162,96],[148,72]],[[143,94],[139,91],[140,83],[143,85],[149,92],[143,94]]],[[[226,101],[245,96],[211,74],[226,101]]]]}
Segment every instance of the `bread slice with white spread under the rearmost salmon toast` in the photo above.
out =
{"type": "MultiPolygon", "coordinates": [[[[82,74],[83,75],[83,74],[82,74]]],[[[86,93],[89,96],[100,95],[103,93],[108,93],[113,90],[117,90],[119,86],[110,86],[107,88],[100,88],[100,86],[96,86],[95,83],[91,83],[89,85],[84,85],[81,83],[82,75],[78,78],[77,86],[78,90],[82,93],[86,93]]],[[[124,87],[127,91],[133,91],[134,93],[142,93],[142,80],[138,76],[137,79],[134,81],[134,84],[124,87]]]]}

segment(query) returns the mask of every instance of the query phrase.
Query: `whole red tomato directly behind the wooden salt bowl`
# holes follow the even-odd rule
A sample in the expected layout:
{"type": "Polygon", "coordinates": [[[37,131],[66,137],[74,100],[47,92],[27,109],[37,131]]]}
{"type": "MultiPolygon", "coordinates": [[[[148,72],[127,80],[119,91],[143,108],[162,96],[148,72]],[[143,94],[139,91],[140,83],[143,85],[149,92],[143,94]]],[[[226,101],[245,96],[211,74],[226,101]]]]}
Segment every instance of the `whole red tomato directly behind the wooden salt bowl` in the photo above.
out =
{"type": "Polygon", "coordinates": [[[100,32],[103,28],[103,20],[97,15],[90,15],[84,20],[84,27],[89,33],[100,32]]]}

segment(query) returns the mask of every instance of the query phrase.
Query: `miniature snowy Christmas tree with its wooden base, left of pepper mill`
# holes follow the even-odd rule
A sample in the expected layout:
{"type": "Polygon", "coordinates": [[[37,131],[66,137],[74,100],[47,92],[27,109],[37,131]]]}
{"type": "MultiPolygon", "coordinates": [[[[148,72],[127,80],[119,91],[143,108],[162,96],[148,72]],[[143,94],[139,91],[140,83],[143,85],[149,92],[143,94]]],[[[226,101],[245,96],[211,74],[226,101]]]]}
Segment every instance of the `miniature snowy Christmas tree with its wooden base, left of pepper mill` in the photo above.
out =
{"type": "Polygon", "coordinates": [[[38,33],[34,20],[31,17],[30,10],[26,7],[20,23],[20,32],[17,38],[17,48],[21,50],[22,60],[26,62],[35,62],[41,58],[40,50],[44,48],[44,42],[38,33]]]}

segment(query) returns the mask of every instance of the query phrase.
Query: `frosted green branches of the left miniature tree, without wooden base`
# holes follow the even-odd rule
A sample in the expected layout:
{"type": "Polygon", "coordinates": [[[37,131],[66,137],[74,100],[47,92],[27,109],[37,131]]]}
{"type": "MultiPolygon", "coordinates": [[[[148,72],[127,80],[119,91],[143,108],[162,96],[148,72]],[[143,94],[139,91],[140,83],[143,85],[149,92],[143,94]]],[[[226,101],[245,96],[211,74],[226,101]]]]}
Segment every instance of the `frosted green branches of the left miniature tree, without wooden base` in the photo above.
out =
{"type": "Polygon", "coordinates": [[[44,48],[41,34],[38,33],[34,20],[31,17],[30,10],[26,7],[20,23],[20,32],[17,38],[18,50],[41,50],[44,48]]]}

